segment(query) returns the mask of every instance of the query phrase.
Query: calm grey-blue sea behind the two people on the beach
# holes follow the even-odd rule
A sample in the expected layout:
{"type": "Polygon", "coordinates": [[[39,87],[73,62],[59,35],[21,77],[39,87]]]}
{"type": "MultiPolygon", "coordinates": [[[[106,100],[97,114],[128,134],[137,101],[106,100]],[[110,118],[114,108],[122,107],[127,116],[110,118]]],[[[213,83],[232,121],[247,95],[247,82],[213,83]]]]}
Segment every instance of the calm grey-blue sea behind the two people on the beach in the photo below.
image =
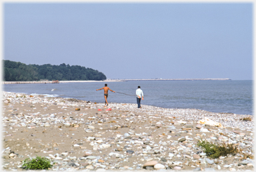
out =
{"type": "MultiPolygon", "coordinates": [[[[135,91],[140,85],[144,93],[142,106],[203,109],[217,113],[253,115],[252,81],[125,81],[106,82],[110,89],[109,103],[136,103],[135,91]]],[[[105,83],[13,84],[3,85],[3,91],[43,94],[49,97],[69,97],[105,102],[105,83]]]]}

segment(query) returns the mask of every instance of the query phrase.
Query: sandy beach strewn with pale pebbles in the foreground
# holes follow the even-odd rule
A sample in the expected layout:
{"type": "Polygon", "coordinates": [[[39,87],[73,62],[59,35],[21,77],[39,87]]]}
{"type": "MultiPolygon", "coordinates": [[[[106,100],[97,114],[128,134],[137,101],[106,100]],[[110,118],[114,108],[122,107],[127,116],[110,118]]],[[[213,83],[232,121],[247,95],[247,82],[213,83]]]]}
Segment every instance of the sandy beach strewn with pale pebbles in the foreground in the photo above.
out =
{"type": "Polygon", "coordinates": [[[254,171],[252,115],[141,106],[3,91],[2,170],[40,156],[51,171],[254,171]],[[240,151],[211,159],[200,140],[240,151]]]}

